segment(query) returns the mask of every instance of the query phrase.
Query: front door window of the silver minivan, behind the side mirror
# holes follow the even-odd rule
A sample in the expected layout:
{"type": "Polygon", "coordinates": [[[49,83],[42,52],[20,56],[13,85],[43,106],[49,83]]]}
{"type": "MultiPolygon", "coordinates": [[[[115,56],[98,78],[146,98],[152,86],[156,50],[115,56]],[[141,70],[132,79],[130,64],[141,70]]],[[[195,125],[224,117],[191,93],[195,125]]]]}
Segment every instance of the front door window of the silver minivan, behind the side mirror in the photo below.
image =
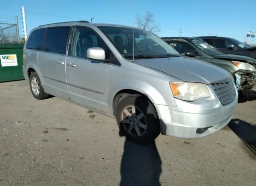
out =
{"type": "Polygon", "coordinates": [[[86,28],[76,28],[74,31],[71,56],[86,58],[88,48],[100,47],[105,50],[106,60],[109,60],[109,49],[94,32],[86,28]]]}

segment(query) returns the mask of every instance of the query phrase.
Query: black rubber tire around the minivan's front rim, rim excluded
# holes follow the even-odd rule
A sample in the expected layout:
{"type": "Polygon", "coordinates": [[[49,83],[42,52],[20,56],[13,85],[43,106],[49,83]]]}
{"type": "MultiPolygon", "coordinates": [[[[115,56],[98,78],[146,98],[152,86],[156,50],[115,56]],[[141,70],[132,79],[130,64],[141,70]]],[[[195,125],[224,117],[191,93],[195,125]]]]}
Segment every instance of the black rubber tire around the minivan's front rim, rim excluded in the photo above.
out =
{"type": "Polygon", "coordinates": [[[156,114],[156,110],[154,105],[144,96],[127,96],[123,98],[117,107],[116,112],[116,121],[120,128],[120,133],[125,134],[128,140],[135,142],[137,144],[149,144],[154,142],[157,136],[160,134],[160,124],[156,114]],[[128,133],[128,131],[124,128],[122,123],[122,111],[126,106],[134,105],[139,108],[144,116],[146,117],[147,128],[145,133],[142,136],[132,136],[128,133]]]}

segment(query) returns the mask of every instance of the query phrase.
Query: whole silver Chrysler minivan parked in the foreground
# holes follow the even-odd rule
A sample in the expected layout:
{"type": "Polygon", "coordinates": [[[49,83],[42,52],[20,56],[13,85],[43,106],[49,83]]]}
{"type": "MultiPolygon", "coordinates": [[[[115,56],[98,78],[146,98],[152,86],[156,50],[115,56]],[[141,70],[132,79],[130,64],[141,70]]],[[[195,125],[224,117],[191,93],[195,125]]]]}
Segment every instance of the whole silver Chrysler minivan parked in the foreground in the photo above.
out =
{"type": "Polygon", "coordinates": [[[238,92],[232,76],[181,56],[138,28],[62,22],[34,28],[23,72],[32,95],[49,94],[116,118],[138,144],[163,135],[196,138],[224,127],[238,92]]]}

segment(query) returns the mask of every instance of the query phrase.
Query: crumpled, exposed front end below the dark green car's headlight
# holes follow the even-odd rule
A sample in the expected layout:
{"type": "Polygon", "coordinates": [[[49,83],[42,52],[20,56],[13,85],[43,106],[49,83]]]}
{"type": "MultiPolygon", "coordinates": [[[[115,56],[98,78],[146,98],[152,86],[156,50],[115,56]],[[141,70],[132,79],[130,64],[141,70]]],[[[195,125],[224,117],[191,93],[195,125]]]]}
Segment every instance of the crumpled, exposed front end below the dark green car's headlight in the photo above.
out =
{"type": "Polygon", "coordinates": [[[256,84],[256,71],[238,70],[234,73],[234,77],[238,90],[251,89],[256,84]]]}

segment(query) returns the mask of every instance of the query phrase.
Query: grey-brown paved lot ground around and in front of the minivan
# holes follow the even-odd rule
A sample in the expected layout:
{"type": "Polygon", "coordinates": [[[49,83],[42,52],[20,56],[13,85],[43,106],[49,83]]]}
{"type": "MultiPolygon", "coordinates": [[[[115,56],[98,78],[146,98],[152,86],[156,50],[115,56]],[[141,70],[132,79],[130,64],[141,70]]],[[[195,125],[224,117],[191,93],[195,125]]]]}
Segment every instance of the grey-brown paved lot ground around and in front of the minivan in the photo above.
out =
{"type": "Polygon", "coordinates": [[[114,119],[0,83],[0,186],[253,186],[256,96],[222,130],[138,146],[114,119]]]}

